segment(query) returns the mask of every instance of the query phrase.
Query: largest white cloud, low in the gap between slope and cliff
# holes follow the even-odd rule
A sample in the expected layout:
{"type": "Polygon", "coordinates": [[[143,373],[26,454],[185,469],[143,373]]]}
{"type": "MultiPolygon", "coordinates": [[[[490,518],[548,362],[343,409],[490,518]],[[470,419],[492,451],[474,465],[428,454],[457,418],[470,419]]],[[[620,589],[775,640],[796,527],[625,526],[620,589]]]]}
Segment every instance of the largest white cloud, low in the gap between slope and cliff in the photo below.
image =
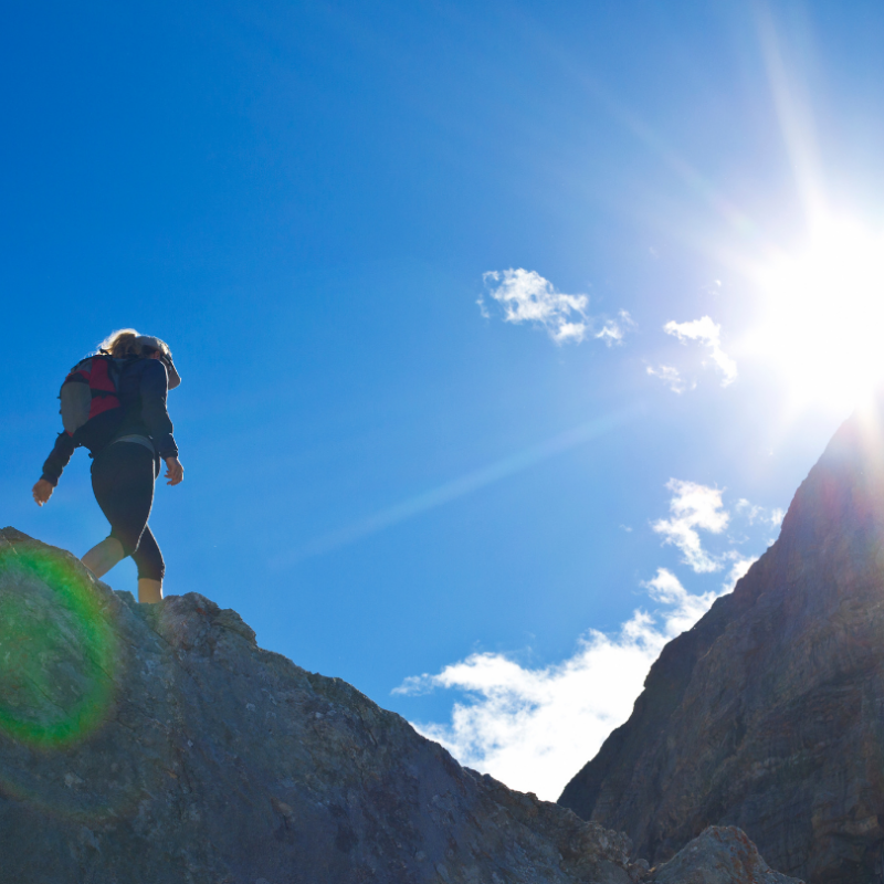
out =
{"type": "Polygon", "coordinates": [[[627,720],[663,645],[690,629],[716,597],[691,594],[664,568],[646,587],[664,611],[636,610],[614,635],[589,630],[564,663],[529,669],[504,654],[472,654],[438,675],[407,678],[394,693],[467,692],[467,702],[454,704],[450,725],[415,725],[418,730],[462,764],[555,801],[627,720]]]}

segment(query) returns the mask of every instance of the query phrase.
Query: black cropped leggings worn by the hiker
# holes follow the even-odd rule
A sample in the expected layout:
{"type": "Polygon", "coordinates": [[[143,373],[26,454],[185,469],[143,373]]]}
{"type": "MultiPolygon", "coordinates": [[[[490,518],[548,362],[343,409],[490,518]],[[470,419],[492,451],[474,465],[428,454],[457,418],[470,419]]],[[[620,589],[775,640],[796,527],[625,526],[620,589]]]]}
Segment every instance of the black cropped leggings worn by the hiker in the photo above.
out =
{"type": "Polygon", "coordinates": [[[92,464],[92,490],[110,523],[110,536],[133,557],[138,577],[162,580],[166,564],[147,526],[156,477],[154,455],[138,442],[114,442],[92,464]]]}

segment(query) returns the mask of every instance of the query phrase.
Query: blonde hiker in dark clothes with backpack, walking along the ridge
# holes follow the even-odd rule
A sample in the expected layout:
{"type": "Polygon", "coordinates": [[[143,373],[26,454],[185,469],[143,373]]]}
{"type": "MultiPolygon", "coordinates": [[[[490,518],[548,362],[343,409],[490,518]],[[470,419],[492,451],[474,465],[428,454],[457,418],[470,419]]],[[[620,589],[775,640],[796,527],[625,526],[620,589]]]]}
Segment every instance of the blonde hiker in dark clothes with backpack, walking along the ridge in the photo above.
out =
{"type": "Polygon", "coordinates": [[[166,392],[180,382],[164,341],[134,328],[115,332],[90,362],[77,364],[67,376],[61,396],[65,431],[33,487],[34,501],[43,506],[74,450],[81,445],[90,450],[92,488],[110,523],[110,535],[83,556],[83,564],[103,577],[131,556],[138,566],[140,602],[162,598],[166,565],[147,525],[160,457],[166,462],[167,485],[178,485],[185,477],[166,411],[166,392]],[[69,402],[72,397],[85,398],[86,412],[78,421],[72,422],[65,389],[69,402]]]}

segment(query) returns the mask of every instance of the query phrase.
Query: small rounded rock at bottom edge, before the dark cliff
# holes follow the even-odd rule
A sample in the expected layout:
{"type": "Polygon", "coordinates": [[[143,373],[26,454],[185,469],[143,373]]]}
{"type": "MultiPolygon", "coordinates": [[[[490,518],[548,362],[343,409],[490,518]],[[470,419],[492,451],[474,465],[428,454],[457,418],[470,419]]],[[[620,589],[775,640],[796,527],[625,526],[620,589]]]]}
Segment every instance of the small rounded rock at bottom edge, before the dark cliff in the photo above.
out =
{"type": "Polygon", "coordinates": [[[653,884],[797,884],[774,872],[736,825],[711,825],[651,878],[653,884]]]}

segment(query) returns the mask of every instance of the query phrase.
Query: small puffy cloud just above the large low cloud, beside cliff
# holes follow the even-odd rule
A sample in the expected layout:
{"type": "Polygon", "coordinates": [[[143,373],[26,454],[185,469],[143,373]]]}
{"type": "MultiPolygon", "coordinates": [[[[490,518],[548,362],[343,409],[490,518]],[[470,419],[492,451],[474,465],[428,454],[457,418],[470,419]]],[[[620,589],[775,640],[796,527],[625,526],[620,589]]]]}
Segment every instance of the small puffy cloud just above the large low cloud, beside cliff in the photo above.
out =
{"type": "Polygon", "coordinates": [[[673,492],[672,517],[657,519],[651,527],[664,536],[664,543],[676,546],[697,573],[719,571],[722,562],[703,549],[697,528],[720,534],[727,527],[730,517],[722,504],[722,490],[677,478],[671,478],[666,487],[673,492]]]}

